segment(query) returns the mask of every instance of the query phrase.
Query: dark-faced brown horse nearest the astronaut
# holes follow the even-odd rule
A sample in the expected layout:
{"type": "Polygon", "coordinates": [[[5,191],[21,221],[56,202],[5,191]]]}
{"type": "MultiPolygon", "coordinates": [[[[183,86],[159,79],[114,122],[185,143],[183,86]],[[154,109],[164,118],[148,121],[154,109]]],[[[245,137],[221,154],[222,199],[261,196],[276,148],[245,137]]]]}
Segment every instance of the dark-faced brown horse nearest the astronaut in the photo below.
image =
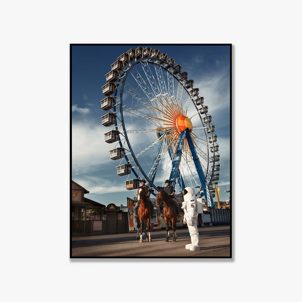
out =
{"type": "Polygon", "coordinates": [[[164,189],[162,188],[156,195],[157,205],[159,206],[161,201],[164,201],[163,215],[166,222],[166,231],[167,237],[166,242],[169,242],[169,222],[172,222],[172,230],[173,230],[173,241],[176,241],[176,222],[177,216],[179,214],[178,204],[173,196],[169,196],[164,189]]]}

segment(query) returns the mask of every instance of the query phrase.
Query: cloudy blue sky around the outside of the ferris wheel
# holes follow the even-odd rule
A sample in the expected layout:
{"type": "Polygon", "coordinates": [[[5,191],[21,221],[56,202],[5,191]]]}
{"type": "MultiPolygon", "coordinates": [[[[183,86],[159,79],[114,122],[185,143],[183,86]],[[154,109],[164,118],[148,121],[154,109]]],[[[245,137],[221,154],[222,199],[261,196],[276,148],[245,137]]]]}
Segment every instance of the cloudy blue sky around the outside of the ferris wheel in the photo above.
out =
{"type": "MultiPolygon", "coordinates": [[[[230,46],[223,45],[73,45],[71,56],[71,129],[72,180],[84,186],[85,196],[102,204],[126,204],[134,191],[125,189],[125,176],[118,176],[119,161],[109,158],[114,147],[104,141],[110,129],[101,123],[100,101],[105,98],[102,86],[105,74],[122,53],[130,48],[149,46],[167,53],[194,80],[199,96],[209,107],[219,145],[220,200],[228,199],[230,188],[230,46]]],[[[162,185],[162,184],[158,184],[162,185]]],[[[216,201],[216,197],[214,197],[216,201]]]]}

